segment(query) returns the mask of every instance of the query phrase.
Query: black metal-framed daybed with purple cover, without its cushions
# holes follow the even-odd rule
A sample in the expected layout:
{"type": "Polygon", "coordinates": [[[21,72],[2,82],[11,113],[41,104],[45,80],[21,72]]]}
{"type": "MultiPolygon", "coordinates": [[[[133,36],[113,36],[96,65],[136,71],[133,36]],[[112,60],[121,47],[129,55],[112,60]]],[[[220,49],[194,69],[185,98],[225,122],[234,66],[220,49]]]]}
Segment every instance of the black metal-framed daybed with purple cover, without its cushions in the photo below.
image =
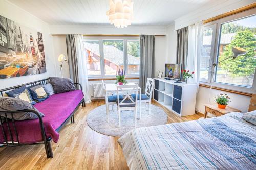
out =
{"type": "MultiPolygon", "coordinates": [[[[39,80],[25,85],[34,85],[38,82],[47,84],[49,80],[39,80]]],[[[58,131],[69,121],[69,119],[71,119],[71,122],[74,123],[74,113],[81,104],[82,106],[85,106],[82,87],[79,83],[74,84],[79,86],[80,89],[77,88],[77,90],[74,91],[53,94],[45,101],[36,103],[34,105],[40,112],[45,114],[44,117],[22,121],[7,119],[6,122],[2,123],[0,130],[0,147],[10,147],[13,145],[30,145],[38,143],[44,144],[47,158],[53,158],[50,143],[51,139],[55,143],[58,142],[58,131]]],[[[0,90],[0,93],[3,96],[4,91],[8,91],[20,86],[0,90]]],[[[22,112],[27,111],[28,110],[24,110],[22,112]]],[[[38,113],[35,111],[32,112],[38,115],[38,113]]],[[[5,113],[13,114],[15,112],[5,113]]]]}

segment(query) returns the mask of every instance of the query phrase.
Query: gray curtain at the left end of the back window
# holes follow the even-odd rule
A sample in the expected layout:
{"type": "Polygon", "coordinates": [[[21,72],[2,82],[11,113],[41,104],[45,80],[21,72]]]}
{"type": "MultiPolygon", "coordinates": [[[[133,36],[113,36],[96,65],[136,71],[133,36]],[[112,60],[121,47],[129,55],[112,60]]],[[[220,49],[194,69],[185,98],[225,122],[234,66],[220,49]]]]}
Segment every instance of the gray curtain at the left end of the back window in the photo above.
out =
{"type": "Polygon", "coordinates": [[[76,53],[76,44],[74,35],[66,35],[68,62],[69,62],[69,74],[70,78],[74,82],[79,82],[78,79],[78,62],[76,53]]]}

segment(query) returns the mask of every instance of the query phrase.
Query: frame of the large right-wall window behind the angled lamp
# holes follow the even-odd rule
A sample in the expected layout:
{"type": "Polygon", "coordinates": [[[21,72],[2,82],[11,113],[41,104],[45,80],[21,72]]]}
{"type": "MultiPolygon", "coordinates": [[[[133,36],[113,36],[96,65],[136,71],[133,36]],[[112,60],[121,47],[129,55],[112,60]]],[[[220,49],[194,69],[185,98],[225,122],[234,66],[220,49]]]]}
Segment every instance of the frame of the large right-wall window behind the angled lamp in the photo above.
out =
{"type": "MultiPolygon", "coordinates": [[[[212,63],[217,63],[218,62],[219,45],[220,45],[220,37],[221,37],[221,25],[224,24],[224,23],[228,23],[228,22],[232,22],[232,21],[235,21],[235,20],[243,19],[243,18],[253,16],[253,15],[255,15],[255,12],[254,12],[253,9],[251,9],[251,10],[247,10],[247,11],[244,11],[244,12],[240,12],[240,13],[237,13],[237,14],[234,14],[234,15],[230,15],[230,16],[218,19],[216,21],[212,21],[210,23],[206,23],[204,25],[204,28],[205,28],[207,26],[216,24],[214,56],[212,57],[212,61],[213,61],[212,63]]],[[[212,63],[211,63],[211,65],[212,65],[212,63]]],[[[212,82],[213,86],[224,88],[224,89],[232,89],[232,90],[235,90],[235,91],[241,91],[241,92],[246,92],[246,93],[255,93],[256,92],[256,69],[255,69],[255,74],[254,74],[254,78],[253,78],[252,87],[245,87],[245,86],[240,86],[240,85],[235,85],[235,84],[216,82],[217,68],[218,68],[218,65],[215,67],[215,70],[214,70],[215,74],[213,75],[214,76],[214,79],[213,79],[214,81],[212,82]]],[[[201,81],[200,80],[200,83],[210,85],[211,80],[212,80],[212,77],[208,77],[207,81],[201,81]]]]}

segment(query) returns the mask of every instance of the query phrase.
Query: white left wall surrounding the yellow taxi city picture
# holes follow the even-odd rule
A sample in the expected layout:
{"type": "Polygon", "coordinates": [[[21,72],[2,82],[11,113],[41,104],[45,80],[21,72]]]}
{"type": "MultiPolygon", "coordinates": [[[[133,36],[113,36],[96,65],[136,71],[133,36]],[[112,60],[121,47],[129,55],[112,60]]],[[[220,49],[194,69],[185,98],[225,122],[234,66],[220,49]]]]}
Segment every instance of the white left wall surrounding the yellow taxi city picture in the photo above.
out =
{"type": "Polygon", "coordinates": [[[4,0],[0,1],[0,15],[42,33],[47,69],[47,72],[44,74],[2,79],[0,80],[0,89],[48,78],[49,76],[55,76],[55,62],[53,58],[52,37],[50,36],[49,25],[25,10],[4,0]]]}

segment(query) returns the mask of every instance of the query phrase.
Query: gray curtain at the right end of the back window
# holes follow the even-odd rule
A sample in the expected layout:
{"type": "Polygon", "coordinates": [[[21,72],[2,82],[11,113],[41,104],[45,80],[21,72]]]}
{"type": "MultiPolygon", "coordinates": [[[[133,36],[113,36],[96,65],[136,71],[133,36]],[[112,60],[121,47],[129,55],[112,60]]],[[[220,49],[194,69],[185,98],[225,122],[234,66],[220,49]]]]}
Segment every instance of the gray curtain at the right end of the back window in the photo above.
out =
{"type": "Polygon", "coordinates": [[[140,35],[140,87],[145,92],[147,78],[155,77],[155,36],[140,35]]]}

